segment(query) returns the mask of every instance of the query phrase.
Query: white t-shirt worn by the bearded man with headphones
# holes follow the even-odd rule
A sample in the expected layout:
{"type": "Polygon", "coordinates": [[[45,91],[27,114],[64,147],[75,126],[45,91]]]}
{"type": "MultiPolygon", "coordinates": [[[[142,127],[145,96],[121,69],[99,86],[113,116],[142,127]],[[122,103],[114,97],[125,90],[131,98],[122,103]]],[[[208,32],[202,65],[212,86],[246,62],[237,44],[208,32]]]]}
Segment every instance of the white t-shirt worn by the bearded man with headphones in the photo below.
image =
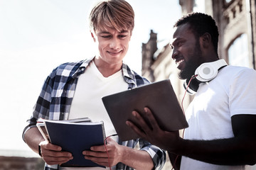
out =
{"type": "MultiPolygon", "coordinates": [[[[234,137],[231,116],[256,114],[256,72],[245,67],[227,66],[217,77],[201,83],[186,111],[189,127],[184,139],[215,140],[234,137]]],[[[220,166],[182,157],[181,170],[240,170],[251,166],[220,166]]]]}

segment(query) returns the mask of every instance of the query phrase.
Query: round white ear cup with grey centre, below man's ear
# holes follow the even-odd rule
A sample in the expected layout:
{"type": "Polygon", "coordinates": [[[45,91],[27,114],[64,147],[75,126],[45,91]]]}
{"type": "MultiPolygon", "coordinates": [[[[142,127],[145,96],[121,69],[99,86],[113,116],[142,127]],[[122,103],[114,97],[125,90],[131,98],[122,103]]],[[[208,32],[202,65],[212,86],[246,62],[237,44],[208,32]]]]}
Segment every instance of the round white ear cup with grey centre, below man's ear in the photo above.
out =
{"type": "Polygon", "coordinates": [[[208,82],[214,79],[218,74],[218,69],[215,69],[210,63],[201,64],[195,72],[198,75],[196,79],[201,82],[208,82]]]}

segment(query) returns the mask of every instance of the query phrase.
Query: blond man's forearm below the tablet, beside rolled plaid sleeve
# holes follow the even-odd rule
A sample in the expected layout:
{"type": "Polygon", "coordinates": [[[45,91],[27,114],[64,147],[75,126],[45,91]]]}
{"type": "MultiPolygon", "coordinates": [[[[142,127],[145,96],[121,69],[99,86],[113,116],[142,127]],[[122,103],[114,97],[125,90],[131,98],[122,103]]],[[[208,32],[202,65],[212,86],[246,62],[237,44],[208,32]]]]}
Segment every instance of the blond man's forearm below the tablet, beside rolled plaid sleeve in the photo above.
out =
{"type": "Polygon", "coordinates": [[[148,152],[122,146],[121,162],[134,169],[153,169],[154,164],[148,152]]]}

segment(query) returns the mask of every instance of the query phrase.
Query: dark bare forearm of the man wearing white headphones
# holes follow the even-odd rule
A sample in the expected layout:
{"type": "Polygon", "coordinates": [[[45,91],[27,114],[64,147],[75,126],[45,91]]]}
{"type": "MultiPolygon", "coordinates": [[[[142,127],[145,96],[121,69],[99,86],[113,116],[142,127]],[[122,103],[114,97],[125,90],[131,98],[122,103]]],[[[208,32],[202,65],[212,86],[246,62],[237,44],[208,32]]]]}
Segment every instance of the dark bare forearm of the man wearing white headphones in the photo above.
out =
{"type": "Polygon", "coordinates": [[[174,151],[192,159],[220,165],[255,164],[255,140],[233,137],[222,140],[181,140],[174,151]]]}

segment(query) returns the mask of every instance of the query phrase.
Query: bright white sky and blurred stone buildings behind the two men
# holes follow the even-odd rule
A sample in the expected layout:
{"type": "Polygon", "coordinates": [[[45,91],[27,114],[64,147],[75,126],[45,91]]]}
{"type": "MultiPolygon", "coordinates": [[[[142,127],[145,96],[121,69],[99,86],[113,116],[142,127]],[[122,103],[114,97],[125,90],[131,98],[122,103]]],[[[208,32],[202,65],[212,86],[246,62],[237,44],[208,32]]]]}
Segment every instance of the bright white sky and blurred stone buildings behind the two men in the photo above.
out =
{"type": "MultiPolygon", "coordinates": [[[[176,76],[169,41],[173,26],[186,13],[208,13],[218,23],[219,55],[228,64],[255,69],[254,0],[127,0],[135,27],[124,62],[150,81],[171,79],[181,101],[183,81],[176,76]]],[[[87,16],[93,0],[0,0],[0,170],[43,169],[23,142],[44,79],[63,62],[92,57],[87,16]]],[[[193,96],[186,96],[184,108],[193,96]]],[[[169,169],[167,162],[164,169],[169,169]]]]}

